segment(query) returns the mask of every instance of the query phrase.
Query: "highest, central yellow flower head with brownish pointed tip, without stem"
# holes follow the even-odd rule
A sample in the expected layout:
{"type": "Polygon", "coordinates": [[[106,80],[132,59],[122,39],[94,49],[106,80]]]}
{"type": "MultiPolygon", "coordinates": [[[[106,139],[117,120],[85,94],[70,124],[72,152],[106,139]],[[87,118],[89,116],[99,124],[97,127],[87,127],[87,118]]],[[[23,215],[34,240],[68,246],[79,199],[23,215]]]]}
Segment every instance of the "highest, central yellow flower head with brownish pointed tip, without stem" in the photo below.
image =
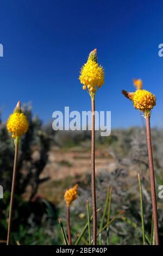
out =
{"type": "Polygon", "coordinates": [[[80,70],[79,80],[91,97],[95,97],[97,90],[104,84],[104,69],[97,63],[97,49],[90,52],[87,62],[80,70]]]}

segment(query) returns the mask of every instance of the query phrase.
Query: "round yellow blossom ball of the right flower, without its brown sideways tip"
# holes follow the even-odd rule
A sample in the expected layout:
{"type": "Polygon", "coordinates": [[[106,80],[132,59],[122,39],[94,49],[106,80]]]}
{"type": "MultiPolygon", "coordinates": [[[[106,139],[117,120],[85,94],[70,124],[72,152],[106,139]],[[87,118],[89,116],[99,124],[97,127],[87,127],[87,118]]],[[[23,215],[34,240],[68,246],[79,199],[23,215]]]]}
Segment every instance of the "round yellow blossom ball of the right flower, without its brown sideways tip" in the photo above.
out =
{"type": "Polygon", "coordinates": [[[133,95],[133,104],[136,109],[148,112],[156,105],[156,98],[154,94],[147,90],[136,90],[133,95]]]}

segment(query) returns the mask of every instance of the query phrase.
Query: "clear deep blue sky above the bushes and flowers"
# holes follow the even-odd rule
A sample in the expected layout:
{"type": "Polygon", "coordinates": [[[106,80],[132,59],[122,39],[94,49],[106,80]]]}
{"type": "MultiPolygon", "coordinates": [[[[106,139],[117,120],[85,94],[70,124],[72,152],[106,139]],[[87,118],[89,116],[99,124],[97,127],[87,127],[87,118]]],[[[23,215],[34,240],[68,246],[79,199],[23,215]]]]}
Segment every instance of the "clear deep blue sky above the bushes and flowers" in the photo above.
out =
{"type": "Polygon", "coordinates": [[[157,97],[152,124],[162,126],[163,2],[153,0],[2,0],[0,4],[0,107],[6,120],[16,102],[32,102],[45,121],[55,110],[90,109],[78,80],[93,48],[105,69],[96,109],[111,111],[112,127],[141,125],[139,112],[121,94],[132,78],[157,97]]]}

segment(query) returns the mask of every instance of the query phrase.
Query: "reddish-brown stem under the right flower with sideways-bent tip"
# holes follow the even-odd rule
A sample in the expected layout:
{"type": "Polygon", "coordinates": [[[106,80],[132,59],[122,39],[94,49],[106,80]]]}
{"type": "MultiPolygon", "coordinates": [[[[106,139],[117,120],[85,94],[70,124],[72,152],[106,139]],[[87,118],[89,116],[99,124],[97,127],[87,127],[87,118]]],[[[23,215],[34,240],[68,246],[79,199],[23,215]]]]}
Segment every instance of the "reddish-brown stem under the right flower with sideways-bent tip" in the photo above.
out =
{"type": "Polygon", "coordinates": [[[155,245],[159,245],[158,212],[157,212],[156,191],[155,191],[155,177],[154,177],[154,167],[153,167],[150,117],[146,118],[146,132],[147,132],[149,172],[150,172],[150,180],[151,180],[151,197],[152,197],[155,245]]]}

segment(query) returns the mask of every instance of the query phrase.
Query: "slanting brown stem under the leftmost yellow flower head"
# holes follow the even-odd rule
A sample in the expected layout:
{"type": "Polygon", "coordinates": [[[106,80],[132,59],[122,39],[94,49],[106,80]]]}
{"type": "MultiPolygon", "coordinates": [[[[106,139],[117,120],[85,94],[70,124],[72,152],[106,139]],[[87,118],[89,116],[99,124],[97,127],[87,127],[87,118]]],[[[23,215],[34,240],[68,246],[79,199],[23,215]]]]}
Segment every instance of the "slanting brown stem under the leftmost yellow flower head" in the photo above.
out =
{"type": "Polygon", "coordinates": [[[14,169],[13,169],[13,174],[12,174],[12,187],[11,187],[11,199],[10,199],[10,210],[9,210],[7,245],[10,244],[10,237],[11,237],[11,222],[12,222],[14,194],[15,194],[15,185],[16,185],[17,156],[18,156],[18,140],[15,139],[15,157],[14,157],[14,169]]]}

